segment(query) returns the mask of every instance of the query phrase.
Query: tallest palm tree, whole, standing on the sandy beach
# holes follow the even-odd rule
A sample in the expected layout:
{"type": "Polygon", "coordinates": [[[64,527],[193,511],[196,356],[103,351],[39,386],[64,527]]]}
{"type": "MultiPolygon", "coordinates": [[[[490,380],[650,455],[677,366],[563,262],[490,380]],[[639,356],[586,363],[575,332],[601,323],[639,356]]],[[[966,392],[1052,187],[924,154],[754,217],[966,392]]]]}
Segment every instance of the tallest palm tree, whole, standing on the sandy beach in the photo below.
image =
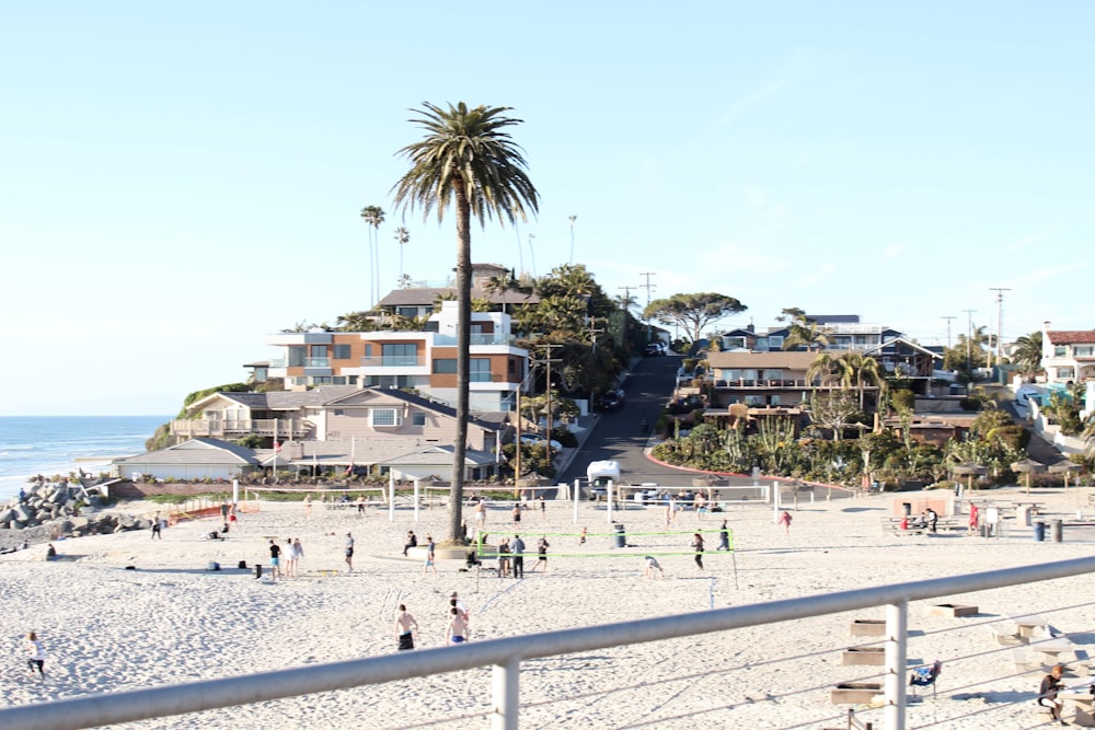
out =
{"type": "Polygon", "coordinates": [[[449,540],[460,536],[468,450],[468,391],[470,382],[469,335],[471,333],[472,234],[471,219],[485,227],[495,216],[516,223],[527,220],[526,208],[540,206],[520,146],[508,127],[520,119],[506,116],[510,107],[469,107],[463,102],[442,108],[423,103],[411,121],[425,136],[407,144],[400,154],[411,170],[396,183],[395,205],[420,207],[423,218],[436,208],[438,221],[451,205],[457,217],[457,438],[452,444],[452,491],[449,498],[449,540]]]}

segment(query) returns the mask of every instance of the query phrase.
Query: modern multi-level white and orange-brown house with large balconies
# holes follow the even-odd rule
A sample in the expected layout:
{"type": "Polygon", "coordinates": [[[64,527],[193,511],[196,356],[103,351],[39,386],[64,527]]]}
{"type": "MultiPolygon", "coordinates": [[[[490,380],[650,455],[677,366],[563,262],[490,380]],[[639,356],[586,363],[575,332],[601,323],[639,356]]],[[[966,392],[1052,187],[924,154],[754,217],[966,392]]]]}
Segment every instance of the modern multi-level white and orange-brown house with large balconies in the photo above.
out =
{"type": "MultiPolygon", "coordinates": [[[[283,332],[266,344],[285,356],[252,363],[253,374],[265,366],[268,378],[285,380],[286,390],[318,385],[414,390],[452,404],[457,399],[458,303],[441,302],[420,332],[283,332]]],[[[471,322],[472,412],[505,410],[529,367],[528,350],[515,345],[505,312],[473,312],[471,322]]]]}

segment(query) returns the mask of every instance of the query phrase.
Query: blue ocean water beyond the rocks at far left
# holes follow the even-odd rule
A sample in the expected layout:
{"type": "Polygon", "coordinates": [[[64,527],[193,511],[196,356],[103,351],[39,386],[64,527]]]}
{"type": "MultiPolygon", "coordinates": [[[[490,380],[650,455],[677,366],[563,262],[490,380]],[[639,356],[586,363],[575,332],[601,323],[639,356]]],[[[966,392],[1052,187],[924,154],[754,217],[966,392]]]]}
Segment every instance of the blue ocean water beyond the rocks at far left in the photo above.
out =
{"type": "Polygon", "coordinates": [[[36,474],[68,476],[78,468],[97,474],[116,456],[145,453],[145,441],[172,418],[0,416],[0,503],[36,474]]]}

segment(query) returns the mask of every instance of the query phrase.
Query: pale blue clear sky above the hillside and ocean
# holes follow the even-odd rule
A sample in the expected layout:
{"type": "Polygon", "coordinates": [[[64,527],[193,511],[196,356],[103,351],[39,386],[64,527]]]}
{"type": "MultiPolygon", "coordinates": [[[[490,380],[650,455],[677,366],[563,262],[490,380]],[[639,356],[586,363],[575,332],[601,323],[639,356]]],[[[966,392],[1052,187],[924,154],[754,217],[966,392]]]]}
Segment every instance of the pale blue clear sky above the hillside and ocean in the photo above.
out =
{"type": "Polygon", "coordinates": [[[244,381],[265,335],[396,286],[400,224],[403,273],[450,276],[451,212],[391,195],[423,102],[522,120],[539,215],[474,228],[475,262],[716,291],[748,308],[722,327],[1095,328],[1093,26],[1086,1],[3,3],[0,415],[244,381]]]}

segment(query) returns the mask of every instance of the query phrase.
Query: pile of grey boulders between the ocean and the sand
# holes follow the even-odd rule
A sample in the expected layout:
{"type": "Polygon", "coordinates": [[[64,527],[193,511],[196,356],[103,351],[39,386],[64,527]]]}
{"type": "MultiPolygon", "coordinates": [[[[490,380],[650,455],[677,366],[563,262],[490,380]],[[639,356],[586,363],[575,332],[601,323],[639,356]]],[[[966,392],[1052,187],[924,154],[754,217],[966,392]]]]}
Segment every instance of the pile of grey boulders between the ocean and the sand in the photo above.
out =
{"type": "Polygon", "coordinates": [[[46,483],[13,497],[0,508],[0,543],[148,530],[151,522],[131,514],[101,511],[102,500],[79,486],[46,483]]]}

